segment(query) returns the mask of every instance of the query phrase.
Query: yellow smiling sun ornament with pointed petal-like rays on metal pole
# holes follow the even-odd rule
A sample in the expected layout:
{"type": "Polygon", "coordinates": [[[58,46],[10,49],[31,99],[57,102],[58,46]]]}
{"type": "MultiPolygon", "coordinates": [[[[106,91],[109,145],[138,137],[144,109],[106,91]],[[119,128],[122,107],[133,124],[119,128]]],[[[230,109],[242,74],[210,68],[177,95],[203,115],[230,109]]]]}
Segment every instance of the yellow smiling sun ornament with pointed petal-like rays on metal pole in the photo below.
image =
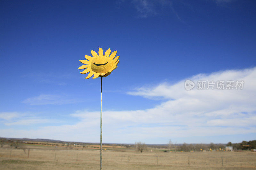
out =
{"type": "Polygon", "coordinates": [[[84,71],[80,72],[81,74],[86,74],[88,79],[92,77],[107,77],[113,70],[116,69],[116,65],[119,63],[119,56],[116,56],[117,51],[114,51],[110,55],[110,48],[103,54],[102,48],[99,48],[99,55],[92,50],[92,57],[89,55],[84,55],[87,60],[80,60],[81,63],[85,64],[79,67],[78,69],[85,69],[84,71]]]}

